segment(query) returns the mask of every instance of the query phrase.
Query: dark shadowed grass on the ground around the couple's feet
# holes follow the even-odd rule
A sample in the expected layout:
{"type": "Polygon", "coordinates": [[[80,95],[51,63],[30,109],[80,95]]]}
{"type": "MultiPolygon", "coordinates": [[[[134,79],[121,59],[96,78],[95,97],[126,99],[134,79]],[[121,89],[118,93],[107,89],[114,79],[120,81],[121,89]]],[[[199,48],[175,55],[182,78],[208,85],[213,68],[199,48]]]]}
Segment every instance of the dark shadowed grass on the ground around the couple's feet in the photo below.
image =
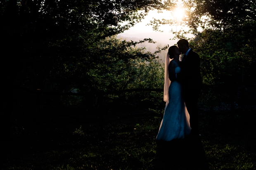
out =
{"type": "MultiPolygon", "coordinates": [[[[126,109],[127,114],[143,112],[126,109]]],[[[256,169],[255,110],[203,111],[201,138],[156,142],[161,117],[104,124],[43,117],[12,128],[1,168],[15,170],[256,169]],[[44,120],[42,120],[44,119],[44,120]]],[[[112,113],[109,113],[111,117],[112,113]]],[[[113,114],[116,114],[116,112],[113,114]]]]}

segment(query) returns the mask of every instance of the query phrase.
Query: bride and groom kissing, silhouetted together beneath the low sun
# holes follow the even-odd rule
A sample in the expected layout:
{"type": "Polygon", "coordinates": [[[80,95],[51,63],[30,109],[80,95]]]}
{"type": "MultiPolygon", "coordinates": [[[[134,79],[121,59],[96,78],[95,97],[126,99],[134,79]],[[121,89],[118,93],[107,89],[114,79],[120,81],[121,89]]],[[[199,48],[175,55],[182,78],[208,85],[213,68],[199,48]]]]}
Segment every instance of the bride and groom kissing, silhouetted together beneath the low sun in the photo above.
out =
{"type": "Polygon", "coordinates": [[[165,61],[166,106],[156,140],[200,136],[197,101],[201,91],[200,57],[186,39],[168,49],[165,61]],[[183,55],[180,61],[180,55],[183,55]]]}

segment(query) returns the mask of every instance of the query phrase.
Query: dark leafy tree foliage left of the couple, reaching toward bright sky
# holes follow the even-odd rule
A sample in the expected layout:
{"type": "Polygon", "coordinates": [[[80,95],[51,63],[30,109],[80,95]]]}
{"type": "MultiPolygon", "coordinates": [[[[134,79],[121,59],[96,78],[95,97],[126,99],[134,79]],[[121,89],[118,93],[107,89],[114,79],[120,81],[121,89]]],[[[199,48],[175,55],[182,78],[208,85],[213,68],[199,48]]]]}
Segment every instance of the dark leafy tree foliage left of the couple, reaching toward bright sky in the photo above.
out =
{"type": "Polygon", "coordinates": [[[140,22],[149,10],[171,5],[159,0],[1,1],[3,105],[12,103],[16,87],[75,90],[90,94],[88,100],[92,93],[131,87],[135,60],[152,61],[159,50],[135,47],[154,43],[152,39],[120,41],[115,35],[140,22]]]}

